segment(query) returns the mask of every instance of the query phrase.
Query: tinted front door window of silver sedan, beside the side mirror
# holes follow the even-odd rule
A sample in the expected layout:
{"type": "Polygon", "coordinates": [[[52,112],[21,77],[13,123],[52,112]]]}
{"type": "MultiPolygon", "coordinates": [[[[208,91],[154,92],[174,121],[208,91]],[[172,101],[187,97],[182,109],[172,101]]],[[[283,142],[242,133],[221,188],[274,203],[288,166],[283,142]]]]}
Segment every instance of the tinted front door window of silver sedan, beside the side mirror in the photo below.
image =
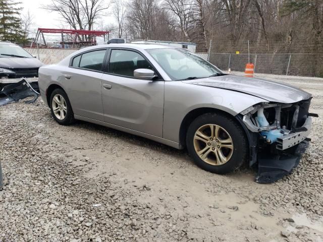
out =
{"type": "Polygon", "coordinates": [[[136,69],[152,69],[150,64],[137,52],[114,49],[111,52],[109,73],[133,77],[136,69]]]}

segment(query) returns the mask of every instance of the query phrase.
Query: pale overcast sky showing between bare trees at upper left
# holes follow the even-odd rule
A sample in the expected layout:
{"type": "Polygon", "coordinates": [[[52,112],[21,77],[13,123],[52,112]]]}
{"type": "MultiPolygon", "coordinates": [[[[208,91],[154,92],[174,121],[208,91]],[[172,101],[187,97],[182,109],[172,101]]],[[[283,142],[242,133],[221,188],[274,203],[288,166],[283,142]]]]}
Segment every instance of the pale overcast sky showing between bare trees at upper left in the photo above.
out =
{"type": "MultiPolygon", "coordinates": [[[[64,22],[60,15],[56,12],[49,12],[41,8],[41,6],[45,6],[51,3],[50,0],[20,0],[21,7],[23,10],[21,14],[26,14],[29,10],[30,14],[33,16],[33,26],[31,27],[30,35],[36,35],[38,28],[62,28],[64,26],[64,22]]],[[[108,22],[113,22],[113,18],[111,16],[106,16],[102,18],[106,25],[108,22]]],[[[65,25],[65,27],[67,27],[65,25]]],[[[34,37],[34,36],[30,36],[34,37]]],[[[46,36],[45,36],[46,37],[46,36]]],[[[48,39],[55,39],[55,36],[47,36],[48,39]]],[[[59,36],[58,36],[59,39],[59,36]]]]}

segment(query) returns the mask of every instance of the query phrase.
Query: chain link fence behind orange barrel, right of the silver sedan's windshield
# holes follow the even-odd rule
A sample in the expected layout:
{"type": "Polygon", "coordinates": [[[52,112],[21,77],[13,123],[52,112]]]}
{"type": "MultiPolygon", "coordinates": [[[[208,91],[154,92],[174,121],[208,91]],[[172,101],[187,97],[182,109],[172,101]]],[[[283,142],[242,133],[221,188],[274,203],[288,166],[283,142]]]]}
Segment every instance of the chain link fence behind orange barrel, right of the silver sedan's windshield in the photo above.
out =
{"type": "MultiPolygon", "coordinates": [[[[244,72],[248,54],[196,53],[221,70],[244,72]]],[[[323,77],[323,54],[250,54],[254,73],[323,77]]]]}

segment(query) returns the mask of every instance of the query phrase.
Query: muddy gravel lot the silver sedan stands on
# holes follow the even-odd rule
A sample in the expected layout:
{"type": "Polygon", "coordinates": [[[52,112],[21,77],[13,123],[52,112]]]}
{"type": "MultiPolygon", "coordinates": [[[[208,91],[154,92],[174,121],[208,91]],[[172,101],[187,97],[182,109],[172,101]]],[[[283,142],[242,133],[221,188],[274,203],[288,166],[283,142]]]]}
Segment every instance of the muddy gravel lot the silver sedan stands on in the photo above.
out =
{"type": "Polygon", "coordinates": [[[323,80],[280,78],[311,92],[320,117],[300,165],[271,185],[109,128],[60,126],[40,99],[0,107],[0,241],[323,241],[323,80]]]}

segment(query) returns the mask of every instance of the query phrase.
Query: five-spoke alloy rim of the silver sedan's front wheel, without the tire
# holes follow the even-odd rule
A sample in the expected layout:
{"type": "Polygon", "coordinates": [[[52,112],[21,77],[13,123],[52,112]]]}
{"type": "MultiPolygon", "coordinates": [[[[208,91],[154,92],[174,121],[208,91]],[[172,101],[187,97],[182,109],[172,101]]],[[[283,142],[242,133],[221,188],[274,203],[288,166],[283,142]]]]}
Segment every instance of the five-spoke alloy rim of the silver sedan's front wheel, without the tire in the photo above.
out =
{"type": "Polygon", "coordinates": [[[233,141],[229,133],[219,125],[207,124],[194,134],[196,154],[210,165],[223,165],[233,154],[233,141]]]}

